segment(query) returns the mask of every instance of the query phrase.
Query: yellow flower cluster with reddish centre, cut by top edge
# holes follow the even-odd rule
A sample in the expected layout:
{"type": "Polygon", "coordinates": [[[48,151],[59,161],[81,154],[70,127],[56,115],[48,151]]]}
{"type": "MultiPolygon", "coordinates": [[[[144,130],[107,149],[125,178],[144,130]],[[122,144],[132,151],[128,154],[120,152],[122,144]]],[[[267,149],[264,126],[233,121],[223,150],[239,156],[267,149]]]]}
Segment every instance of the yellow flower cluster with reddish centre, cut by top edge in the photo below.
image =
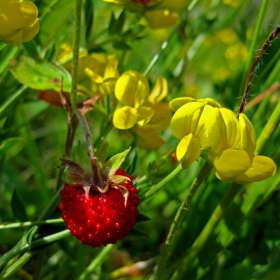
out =
{"type": "Polygon", "coordinates": [[[153,29],[168,28],[178,24],[178,13],[189,0],[104,0],[122,6],[132,12],[142,13],[153,29]]]}

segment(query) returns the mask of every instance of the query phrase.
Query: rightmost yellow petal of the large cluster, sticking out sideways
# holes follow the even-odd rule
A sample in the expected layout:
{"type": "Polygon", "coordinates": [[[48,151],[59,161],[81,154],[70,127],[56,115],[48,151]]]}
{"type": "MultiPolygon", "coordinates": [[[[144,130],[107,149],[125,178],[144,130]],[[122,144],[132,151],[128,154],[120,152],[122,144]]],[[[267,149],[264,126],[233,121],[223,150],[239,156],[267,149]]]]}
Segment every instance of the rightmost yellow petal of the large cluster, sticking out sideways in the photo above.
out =
{"type": "Polygon", "coordinates": [[[275,171],[276,165],[271,158],[256,155],[253,158],[250,168],[235,177],[234,181],[239,184],[258,182],[273,176],[275,171]]]}

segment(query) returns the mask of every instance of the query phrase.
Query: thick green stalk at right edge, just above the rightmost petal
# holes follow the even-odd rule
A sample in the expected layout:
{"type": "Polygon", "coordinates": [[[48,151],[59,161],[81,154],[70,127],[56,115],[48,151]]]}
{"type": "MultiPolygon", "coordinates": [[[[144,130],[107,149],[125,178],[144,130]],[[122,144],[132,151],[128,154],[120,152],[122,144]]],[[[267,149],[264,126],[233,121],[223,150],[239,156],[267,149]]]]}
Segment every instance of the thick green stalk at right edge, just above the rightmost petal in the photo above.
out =
{"type": "Polygon", "coordinates": [[[256,144],[256,153],[261,153],[268,139],[278,127],[280,121],[280,102],[278,102],[276,108],[274,109],[272,115],[267,121],[265,127],[263,128],[260,136],[258,137],[256,144]]]}

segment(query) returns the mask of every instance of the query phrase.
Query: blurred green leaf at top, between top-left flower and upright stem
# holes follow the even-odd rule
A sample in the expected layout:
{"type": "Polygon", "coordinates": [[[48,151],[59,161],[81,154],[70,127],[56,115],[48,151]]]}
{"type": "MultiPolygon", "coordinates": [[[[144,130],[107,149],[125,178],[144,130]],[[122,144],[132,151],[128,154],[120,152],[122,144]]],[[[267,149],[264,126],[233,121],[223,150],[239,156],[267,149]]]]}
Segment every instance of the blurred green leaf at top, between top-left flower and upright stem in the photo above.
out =
{"type": "Polygon", "coordinates": [[[49,6],[49,10],[41,16],[39,40],[46,47],[54,39],[57,30],[67,20],[67,15],[74,10],[75,1],[59,0],[49,6]]]}

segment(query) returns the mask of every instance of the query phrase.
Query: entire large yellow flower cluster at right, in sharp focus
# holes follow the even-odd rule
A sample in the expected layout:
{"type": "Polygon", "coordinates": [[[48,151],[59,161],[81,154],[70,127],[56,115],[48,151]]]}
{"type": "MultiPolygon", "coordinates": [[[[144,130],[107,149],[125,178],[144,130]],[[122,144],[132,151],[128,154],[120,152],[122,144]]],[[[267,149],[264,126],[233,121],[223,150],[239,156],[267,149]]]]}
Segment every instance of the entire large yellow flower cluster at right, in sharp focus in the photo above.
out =
{"type": "Polygon", "coordinates": [[[276,170],[272,159],[255,154],[256,136],[249,119],[235,114],[213,99],[178,98],[170,102],[176,111],[171,130],[180,139],[176,156],[184,168],[208,149],[208,160],[222,181],[257,182],[276,170]]]}

